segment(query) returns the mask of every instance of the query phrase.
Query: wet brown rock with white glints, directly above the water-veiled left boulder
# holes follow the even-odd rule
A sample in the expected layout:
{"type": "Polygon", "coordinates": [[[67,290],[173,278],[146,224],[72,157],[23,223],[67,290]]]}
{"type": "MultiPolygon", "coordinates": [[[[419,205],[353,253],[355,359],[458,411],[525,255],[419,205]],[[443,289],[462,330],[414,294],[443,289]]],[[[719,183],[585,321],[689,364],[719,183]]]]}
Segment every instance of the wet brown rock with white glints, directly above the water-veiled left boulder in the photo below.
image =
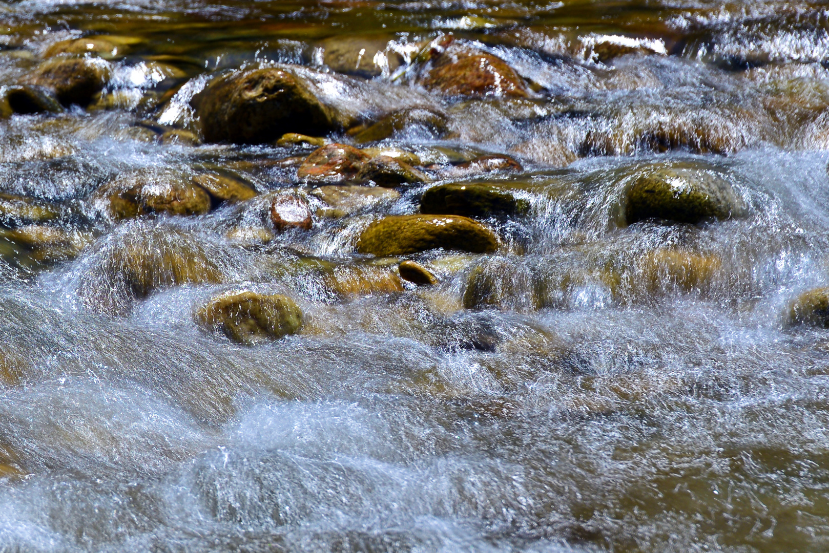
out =
{"type": "Polygon", "coordinates": [[[114,219],[150,213],[201,215],[211,208],[204,188],[178,172],[154,169],[119,175],[100,187],[92,200],[114,219]]]}

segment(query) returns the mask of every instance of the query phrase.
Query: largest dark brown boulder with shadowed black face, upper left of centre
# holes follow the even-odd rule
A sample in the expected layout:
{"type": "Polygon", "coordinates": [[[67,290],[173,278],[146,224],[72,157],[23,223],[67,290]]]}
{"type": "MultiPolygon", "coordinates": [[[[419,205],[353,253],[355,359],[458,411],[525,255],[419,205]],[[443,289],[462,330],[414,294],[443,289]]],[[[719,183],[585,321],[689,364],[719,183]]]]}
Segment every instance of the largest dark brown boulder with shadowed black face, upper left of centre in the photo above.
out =
{"type": "Polygon", "coordinates": [[[267,143],[284,133],[319,135],[341,125],[301,77],[276,67],[220,77],[194,103],[206,142],[267,143]]]}

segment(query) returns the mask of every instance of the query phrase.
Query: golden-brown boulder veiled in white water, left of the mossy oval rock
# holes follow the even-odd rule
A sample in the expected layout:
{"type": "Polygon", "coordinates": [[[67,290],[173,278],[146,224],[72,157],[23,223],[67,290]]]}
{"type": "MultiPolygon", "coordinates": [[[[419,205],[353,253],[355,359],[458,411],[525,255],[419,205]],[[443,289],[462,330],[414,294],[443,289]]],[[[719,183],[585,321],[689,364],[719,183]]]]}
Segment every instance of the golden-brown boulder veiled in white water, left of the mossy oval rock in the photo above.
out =
{"type": "Polygon", "coordinates": [[[128,221],[91,250],[79,290],[84,303],[99,313],[128,313],[135,299],[159,289],[225,278],[216,245],[173,226],[128,221]]]}

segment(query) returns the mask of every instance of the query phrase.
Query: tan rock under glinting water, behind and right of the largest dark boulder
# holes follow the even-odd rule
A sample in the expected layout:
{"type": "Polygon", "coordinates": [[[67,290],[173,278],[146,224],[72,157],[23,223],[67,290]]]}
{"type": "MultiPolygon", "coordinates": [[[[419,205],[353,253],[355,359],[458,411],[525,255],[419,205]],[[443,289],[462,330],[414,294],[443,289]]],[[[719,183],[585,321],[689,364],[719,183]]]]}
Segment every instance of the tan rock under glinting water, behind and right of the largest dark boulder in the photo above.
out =
{"type": "Polygon", "coordinates": [[[390,75],[403,58],[389,50],[394,36],[333,36],[322,41],[322,63],[339,73],[371,79],[390,75]]]}

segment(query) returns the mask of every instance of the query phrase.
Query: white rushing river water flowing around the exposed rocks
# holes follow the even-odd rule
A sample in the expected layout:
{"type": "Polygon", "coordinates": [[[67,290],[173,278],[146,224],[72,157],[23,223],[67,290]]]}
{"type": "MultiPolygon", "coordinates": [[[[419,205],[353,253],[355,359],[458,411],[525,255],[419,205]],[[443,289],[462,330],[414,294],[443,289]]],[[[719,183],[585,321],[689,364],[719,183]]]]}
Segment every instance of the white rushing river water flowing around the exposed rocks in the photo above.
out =
{"type": "Polygon", "coordinates": [[[75,39],[109,71],[88,105],[0,119],[3,553],[829,550],[829,331],[789,320],[829,286],[826,2],[20,0],[0,20],[3,95],[75,39]],[[526,95],[424,89],[447,36],[526,95]],[[358,123],[439,112],[360,144],[429,182],[332,211],[298,178],[314,147],[201,140],[194,96],[269,66],[358,123]],[[463,164],[483,154],[521,170],[463,164]],[[627,226],[632,182],[678,166],[740,216],[627,226]],[[126,219],[97,195],[204,172],[258,195],[126,219]],[[357,253],[446,182],[514,191],[520,212],[478,216],[496,252],[357,253]],[[288,191],[311,230],[274,230],[288,191]],[[288,295],[303,327],[202,330],[238,289],[288,295]]]}

